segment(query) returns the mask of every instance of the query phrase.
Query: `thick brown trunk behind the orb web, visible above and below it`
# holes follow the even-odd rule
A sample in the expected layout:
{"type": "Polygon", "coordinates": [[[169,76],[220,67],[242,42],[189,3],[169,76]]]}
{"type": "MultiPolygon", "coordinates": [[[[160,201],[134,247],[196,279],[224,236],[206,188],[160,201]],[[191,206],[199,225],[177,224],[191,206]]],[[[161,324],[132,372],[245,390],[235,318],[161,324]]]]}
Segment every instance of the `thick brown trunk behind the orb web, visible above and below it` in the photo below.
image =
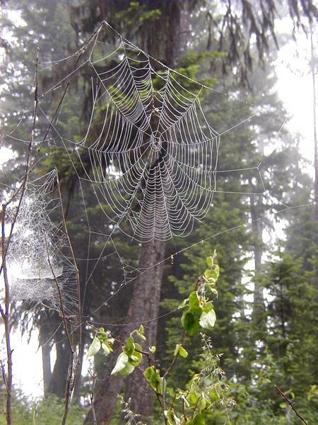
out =
{"type": "MultiPolygon", "coordinates": [[[[160,18],[152,21],[148,27],[144,23],[142,47],[151,55],[164,60],[169,67],[179,67],[180,59],[187,47],[189,32],[190,11],[194,8],[196,0],[180,2],[177,0],[149,0],[145,2],[148,8],[159,8],[160,18]]],[[[113,8],[120,9],[120,2],[110,2],[113,8]]],[[[102,8],[100,9],[103,10],[102,8]]],[[[103,13],[102,13],[103,14],[103,13]]],[[[104,12],[107,20],[107,11],[104,12]]],[[[129,34],[127,35],[129,37],[129,34]]],[[[131,331],[145,325],[147,337],[146,347],[155,345],[158,327],[158,311],[160,302],[160,287],[163,276],[163,261],[165,256],[165,242],[155,240],[147,242],[141,246],[139,268],[141,275],[134,284],[134,293],[131,297],[129,311],[127,314],[127,326],[122,328],[119,339],[124,340],[131,331]]],[[[110,363],[107,365],[107,375],[104,380],[100,380],[96,389],[94,410],[98,425],[109,424],[112,411],[117,402],[117,395],[124,388],[124,378],[122,375],[110,376],[117,356],[122,351],[120,346],[114,349],[110,356],[110,363]]],[[[129,377],[126,385],[125,398],[131,398],[131,409],[147,416],[152,411],[151,392],[143,380],[141,369],[137,368],[129,377]]],[[[93,424],[93,412],[90,409],[86,417],[85,424],[93,424]]]]}

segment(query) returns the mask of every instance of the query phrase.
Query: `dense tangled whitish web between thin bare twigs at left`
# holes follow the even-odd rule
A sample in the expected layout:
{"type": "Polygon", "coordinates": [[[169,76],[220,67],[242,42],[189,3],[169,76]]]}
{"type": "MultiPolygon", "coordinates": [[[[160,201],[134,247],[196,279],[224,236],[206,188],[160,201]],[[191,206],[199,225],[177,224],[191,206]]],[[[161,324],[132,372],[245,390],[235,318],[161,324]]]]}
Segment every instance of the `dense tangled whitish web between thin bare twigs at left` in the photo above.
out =
{"type": "Polygon", "coordinates": [[[6,255],[10,297],[23,310],[40,305],[74,314],[78,305],[76,269],[60,222],[61,205],[52,197],[55,179],[52,171],[29,181],[18,215],[16,203],[7,210],[7,225],[14,221],[6,255]]]}

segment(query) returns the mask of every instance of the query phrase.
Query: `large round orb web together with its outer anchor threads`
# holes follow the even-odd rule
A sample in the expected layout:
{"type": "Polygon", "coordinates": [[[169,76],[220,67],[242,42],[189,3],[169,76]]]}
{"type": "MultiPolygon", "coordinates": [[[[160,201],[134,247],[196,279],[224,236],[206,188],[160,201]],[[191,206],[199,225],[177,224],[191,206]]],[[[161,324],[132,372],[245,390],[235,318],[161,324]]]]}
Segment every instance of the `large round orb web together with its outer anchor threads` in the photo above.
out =
{"type": "MultiPolygon", "coordinates": [[[[218,169],[220,136],[235,133],[247,122],[252,125],[262,110],[254,108],[252,115],[249,111],[230,128],[218,123],[220,129],[215,130],[202,106],[204,91],[213,92],[215,103],[223,93],[170,69],[118,33],[117,42],[106,43],[105,30],[114,35],[114,30],[102,23],[78,52],[40,63],[39,73],[58,81],[40,97],[37,127],[42,123],[45,128],[44,118],[50,131],[44,130],[42,139],[38,130],[35,142],[39,149],[48,147],[45,155],[62,146],[68,154],[67,169],[72,164],[76,174],[81,198],[77,218],[81,217],[83,225],[86,222],[88,232],[86,255],[76,258],[79,263],[86,262],[84,292],[100,263],[119,263],[121,268],[121,276],[111,282],[110,297],[100,307],[148,270],[125,261],[114,239],[118,232],[136,242],[186,237],[196,224],[205,225],[204,217],[213,208],[216,193],[263,196],[265,192],[259,165],[218,169]],[[79,89],[81,84],[84,89],[79,89]],[[72,93],[78,96],[74,104],[72,93]],[[85,108],[88,115],[83,115],[79,107],[88,101],[87,93],[91,96],[85,108]],[[61,101],[52,118],[52,105],[43,105],[56,94],[61,101]],[[249,178],[254,175],[261,192],[249,192],[246,183],[242,191],[226,192],[218,188],[220,173],[237,173],[237,181],[245,182],[245,173],[249,178]],[[105,215],[105,224],[98,227],[93,225],[88,193],[93,193],[105,215]]],[[[6,137],[30,142],[13,134],[6,137]]],[[[211,234],[207,239],[220,234],[207,228],[211,234]]],[[[175,254],[182,251],[176,249],[175,254]]],[[[167,260],[170,257],[163,259],[167,260]]]]}

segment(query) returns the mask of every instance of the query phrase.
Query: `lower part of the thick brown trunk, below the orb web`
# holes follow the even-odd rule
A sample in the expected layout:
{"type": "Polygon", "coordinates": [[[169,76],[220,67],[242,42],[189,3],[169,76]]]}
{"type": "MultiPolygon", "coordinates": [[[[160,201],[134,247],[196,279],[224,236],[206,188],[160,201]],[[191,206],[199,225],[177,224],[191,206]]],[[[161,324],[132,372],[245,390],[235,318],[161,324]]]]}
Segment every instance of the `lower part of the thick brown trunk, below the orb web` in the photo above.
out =
{"type": "MultiPolygon", "coordinates": [[[[165,242],[163,241],[148,242],[141,246],[139,260],[141,275],[134,285],[134,293],[126,317],[127,325],[122,328],[119,334],[119,339],[122,341],[140,324],[145,324],[146,347],[148,348],[155,344],[160,287],[163,277],[163,263],[160,263],[160,261],[163,260],[164,256],[165,242]]],[[[121,346],[117,344],[114,353],[110,357],[110,363],[107,365],[107,375],[110,374],[110,370],[114,367],[117,356],[121,351],[121,346]]],[[[143,368],[143,364],[141,364],[141,368],[143,368]]],[[[100,381],[94,403],[98,424],[106,425],[110,423],[112,412],[117,402],[117,395],[123,388],[124,377],[122,375],[110,376],[110,378],[100,381]]],[[[148,390],[141,370],[137,369],[129,377],[126,397],[131,397],[131,409],[134,412],[143,414],[143,416],[151,414],[151,392],[148,390]]],[[[93,424],[92,411],[88,413],[85,424],[93,424]]]]}

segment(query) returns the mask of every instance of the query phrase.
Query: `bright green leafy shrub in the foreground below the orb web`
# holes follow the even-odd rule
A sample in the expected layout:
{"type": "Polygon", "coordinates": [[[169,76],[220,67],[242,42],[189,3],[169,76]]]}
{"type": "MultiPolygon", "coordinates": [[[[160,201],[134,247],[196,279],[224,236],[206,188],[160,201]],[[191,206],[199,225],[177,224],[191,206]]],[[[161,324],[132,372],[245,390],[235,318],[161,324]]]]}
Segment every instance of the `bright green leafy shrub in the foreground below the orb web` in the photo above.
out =
{"type": "MultiPolygon", "coordinates": [[[[204,330],[212,329],[216,322],[213,303],[208,297],[209,293],[214,296],[218,294],[215,286],[219,276],[219,266],[215,263],[215,258],[216,254],[208,256],[206,259],[208,268],[199,277],[196,290],[192,291],[180,305],[180,308],[184,309],[181,325],[189,336],[195,334],[200,327],[204,330]]],[[[122,353],[117,358],[112,375],[117,373],[130,375],[141,364],[143,356],[146,357],[148,368],[143,370],[143,376],[158,399],[165,424],[205,424],[206,417],[220,402],[223,403],[222,411],[234,404],[225,394],[228,387],[223,382],[224,373],[219,368],[218,356],[214,356],[211,351],[211,342],[208,337],[202,334],[204,352],[201,356],[201,371],[194,374],[187,383],[187,388],[182,390],[170,385],[168,375],[179,357],[187,358],[189,355],[183,346],[184,332],[180,343],[175,344],[172,361],[165,371],[158,367],[155,360],[156,347],[151,346],[146,349],[135,341],[135,335],[143,342],[146,340],[143,332],[143,325],[141,325],[139,329],[131,332],[126,341],[119,341],[107,335],[103,328],[96,329],[88,355],[95,356],[100,349],[105,354],[109,354],[112,351],[110,344],[113,342],[121,344],[122,353]]],[[[130,412],[127,406],[126,409],[130,412]]]]}

